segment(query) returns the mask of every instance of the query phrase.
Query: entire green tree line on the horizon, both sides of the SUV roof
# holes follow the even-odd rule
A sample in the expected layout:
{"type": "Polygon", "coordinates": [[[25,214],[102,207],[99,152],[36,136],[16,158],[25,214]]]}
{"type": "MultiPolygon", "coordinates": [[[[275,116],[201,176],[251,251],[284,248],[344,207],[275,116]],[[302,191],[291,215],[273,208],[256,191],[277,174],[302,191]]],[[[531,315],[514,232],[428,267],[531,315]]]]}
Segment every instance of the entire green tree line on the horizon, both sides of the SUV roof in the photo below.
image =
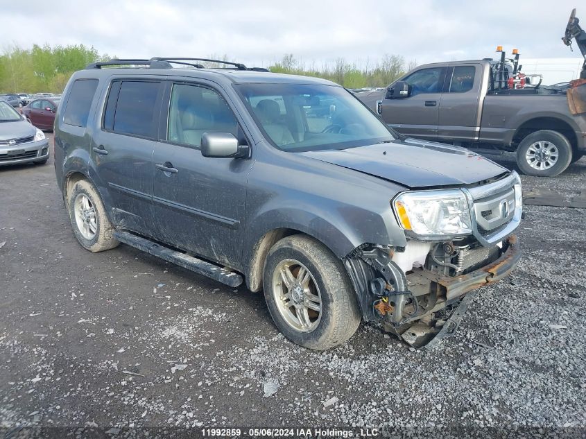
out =
{"type": "MultiPolygon", "coordinates": [[[[110,58],[83,44],[54,47],[35,44],[32,49],[12,46],[0,55],[0,93],[61,93],[74,71],[110,58]]],[[[228,57],[223,55],[221,59],[228,60],[228,57]]],[[[386,87],[413,67],[415,62],[406,63],[401,55],[384,55],[374,62],[347,62],[338,58],[333,64],[318,66],[315,62],[308,65],[289,53],[268,68],[276,73],[315,76],[347,88],[362,88],[386,87]]]]}

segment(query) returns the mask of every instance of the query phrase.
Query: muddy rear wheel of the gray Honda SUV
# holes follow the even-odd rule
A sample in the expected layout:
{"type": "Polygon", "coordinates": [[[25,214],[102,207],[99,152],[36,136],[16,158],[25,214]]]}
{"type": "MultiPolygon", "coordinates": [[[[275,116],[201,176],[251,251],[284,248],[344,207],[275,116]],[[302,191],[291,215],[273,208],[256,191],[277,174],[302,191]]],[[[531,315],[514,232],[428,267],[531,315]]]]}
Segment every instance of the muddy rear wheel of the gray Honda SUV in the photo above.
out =
{"type": "Polygon", "coordinates": [[[114,227],[105,214],[105,208],[96,188],[87,180],[80,180],[69,196],[69,218],[79,243],[90,252],[102,252],[118,246],[114,227]]]}

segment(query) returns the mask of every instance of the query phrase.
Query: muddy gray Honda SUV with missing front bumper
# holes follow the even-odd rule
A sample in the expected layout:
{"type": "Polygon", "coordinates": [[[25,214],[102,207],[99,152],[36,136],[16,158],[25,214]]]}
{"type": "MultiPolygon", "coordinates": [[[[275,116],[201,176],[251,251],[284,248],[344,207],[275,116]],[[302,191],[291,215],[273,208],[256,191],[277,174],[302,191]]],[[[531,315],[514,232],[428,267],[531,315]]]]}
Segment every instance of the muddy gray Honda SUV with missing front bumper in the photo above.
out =
{"type": "Polygon", "coordinates": [[[316,350],[361,320],[438,340],[466,293],[517,264],[515,172],[398,135],[327,80],[209,61],[112,60],[69,80],[55,173],[87,250],[126,243],[245,282],[316,350]]]}

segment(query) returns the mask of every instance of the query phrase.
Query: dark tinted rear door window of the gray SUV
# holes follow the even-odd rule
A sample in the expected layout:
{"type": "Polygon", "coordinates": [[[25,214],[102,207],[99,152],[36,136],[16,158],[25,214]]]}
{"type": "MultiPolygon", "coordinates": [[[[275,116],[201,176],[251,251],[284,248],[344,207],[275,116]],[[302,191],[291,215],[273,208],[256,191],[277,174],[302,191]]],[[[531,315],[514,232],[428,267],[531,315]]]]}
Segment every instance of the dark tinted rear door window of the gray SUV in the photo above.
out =
{"type": "Polygon", "coordinates": [[[119,134],[157,137],[155,121],[161,83],[115,81],[108,94],[103,126],[119,134]]]}

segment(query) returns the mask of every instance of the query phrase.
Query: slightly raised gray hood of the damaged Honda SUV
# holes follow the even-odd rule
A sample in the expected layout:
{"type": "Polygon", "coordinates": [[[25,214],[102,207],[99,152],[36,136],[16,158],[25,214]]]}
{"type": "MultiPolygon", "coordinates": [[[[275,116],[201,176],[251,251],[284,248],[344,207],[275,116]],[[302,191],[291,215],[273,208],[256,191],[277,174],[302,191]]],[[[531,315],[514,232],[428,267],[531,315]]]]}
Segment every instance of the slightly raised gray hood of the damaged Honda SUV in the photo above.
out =
{"type": "Polygon", "coordinates": [[[300,154],[408,188],[472,184],[508,172],[465,148],[417,139],[300,154]]]}

